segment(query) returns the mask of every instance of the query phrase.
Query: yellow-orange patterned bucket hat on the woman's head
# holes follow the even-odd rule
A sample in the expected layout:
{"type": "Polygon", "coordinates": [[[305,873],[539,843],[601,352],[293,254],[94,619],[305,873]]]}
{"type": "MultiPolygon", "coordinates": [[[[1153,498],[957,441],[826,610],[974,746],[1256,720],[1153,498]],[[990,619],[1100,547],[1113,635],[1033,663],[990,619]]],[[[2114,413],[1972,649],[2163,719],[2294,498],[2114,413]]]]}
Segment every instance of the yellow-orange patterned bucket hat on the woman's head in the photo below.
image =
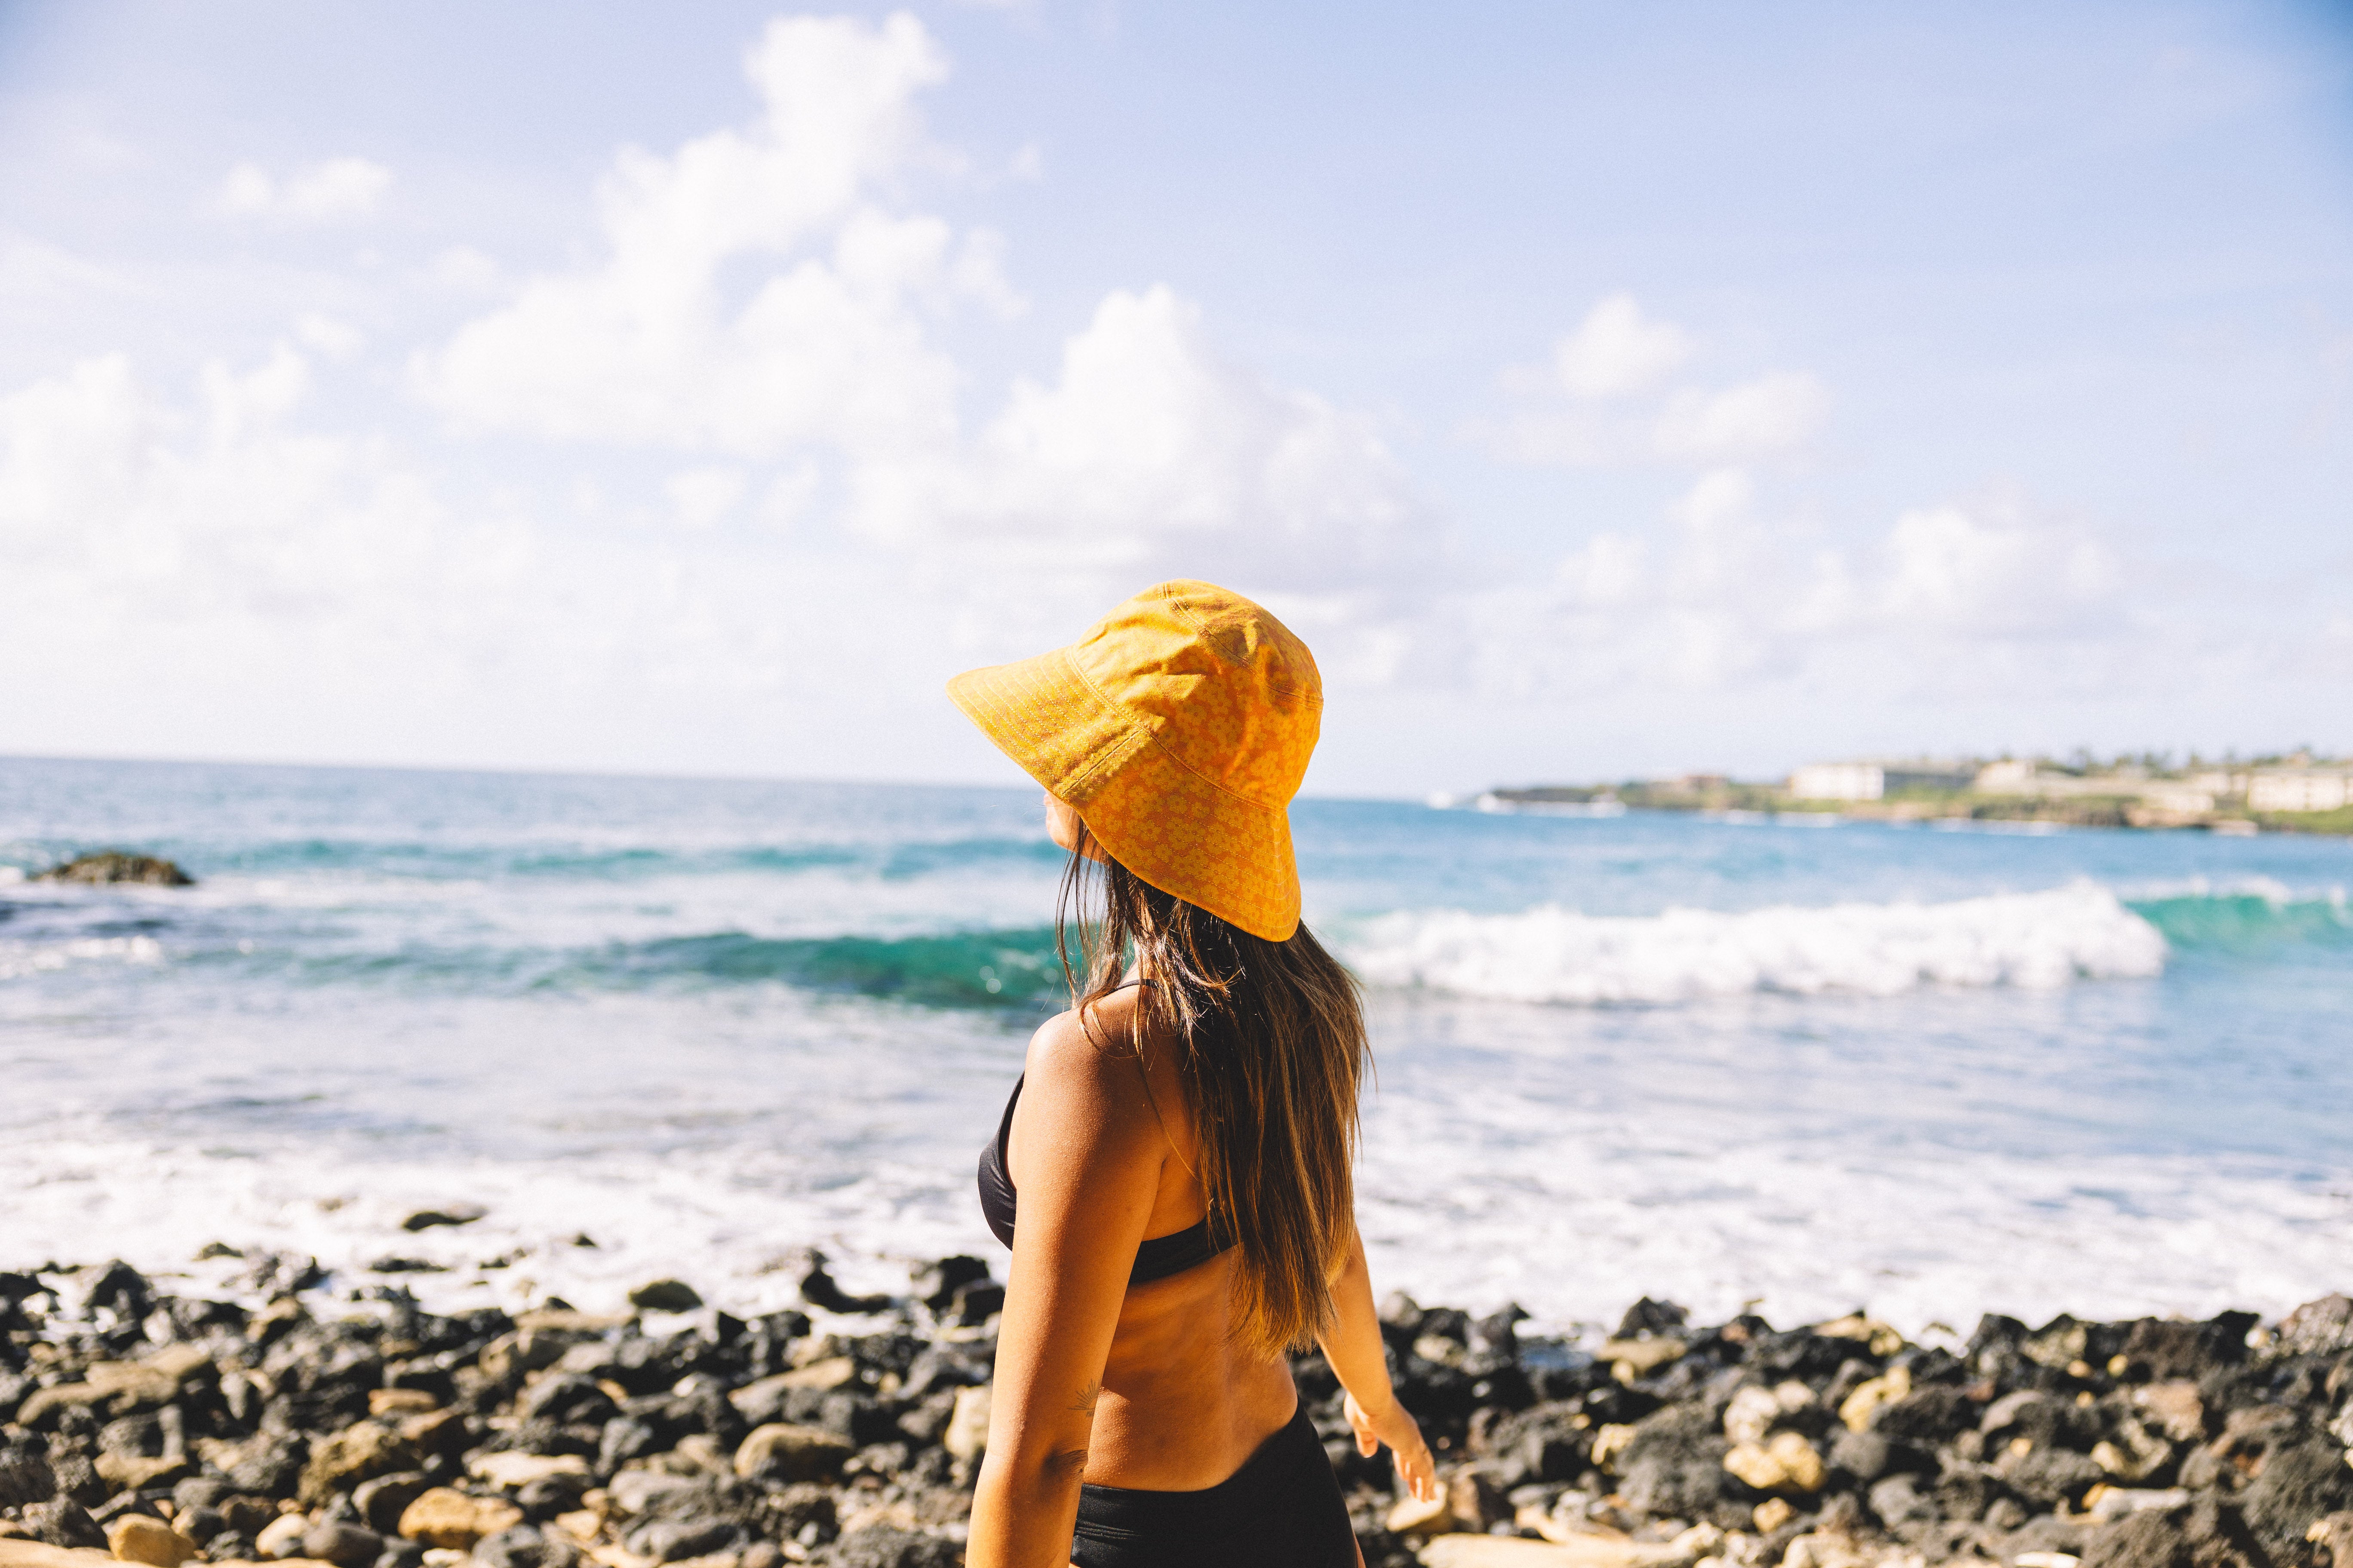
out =
{"type": "Polygon", "coordinates": [[[1238,592],[1146,588],[948,696],[1136,877],[1271,943],[1299,929],[1289,802],[1322,724],[1308,644],[1238,592]]]}

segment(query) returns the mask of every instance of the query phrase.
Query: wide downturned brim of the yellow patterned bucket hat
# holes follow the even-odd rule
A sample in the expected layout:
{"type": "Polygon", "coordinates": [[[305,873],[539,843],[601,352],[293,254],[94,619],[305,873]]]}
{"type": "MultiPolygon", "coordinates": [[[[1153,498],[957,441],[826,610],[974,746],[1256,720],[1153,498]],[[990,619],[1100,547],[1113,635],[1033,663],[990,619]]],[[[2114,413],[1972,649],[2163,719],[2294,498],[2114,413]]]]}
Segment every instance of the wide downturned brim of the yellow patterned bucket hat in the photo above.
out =
{"type": "Polygon", "coordinates": [[[1087,684],[1068,649],[967,670],[948,698],[1151,886],[1268,943],[1299,931],[1289,813],[1188,769],[1087,684]]]}

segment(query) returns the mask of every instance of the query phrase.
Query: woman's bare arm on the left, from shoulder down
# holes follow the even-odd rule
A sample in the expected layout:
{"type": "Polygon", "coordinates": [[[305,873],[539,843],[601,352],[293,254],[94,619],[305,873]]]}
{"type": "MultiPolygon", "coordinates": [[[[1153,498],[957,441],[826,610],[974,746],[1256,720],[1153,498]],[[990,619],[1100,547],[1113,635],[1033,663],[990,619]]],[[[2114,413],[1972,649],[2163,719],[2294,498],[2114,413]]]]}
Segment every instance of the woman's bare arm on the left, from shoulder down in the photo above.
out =
{"type": "Polygon", "coordinates": [[[1021,1218],[998,1321],[969,1568],[1066,1568],[1094,1401],[1167,1138],[1127,1056],[1073,1016],[1038,1030],[1014,1119],[1021,1218]]]}

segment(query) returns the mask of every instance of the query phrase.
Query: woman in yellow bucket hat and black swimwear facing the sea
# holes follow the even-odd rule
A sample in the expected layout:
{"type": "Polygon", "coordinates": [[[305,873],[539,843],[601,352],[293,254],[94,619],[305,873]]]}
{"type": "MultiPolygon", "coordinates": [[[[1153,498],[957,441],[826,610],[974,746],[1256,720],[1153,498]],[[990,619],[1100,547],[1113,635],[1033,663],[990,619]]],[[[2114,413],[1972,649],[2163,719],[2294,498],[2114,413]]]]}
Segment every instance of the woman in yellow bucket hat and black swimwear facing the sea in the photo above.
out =
{"type": "Polygon", "coordinates": [[[1438,1493],[1355,1232],[1355,985],[1299,924],[1315,661],[1249,599],[1160,583],[948,693],[1045,785],[1064,910],[1101,884],[1078,1006],[981,1157],[1014,1260],[965,1561],[1360,1563],[1287,1349],[1322,1345],[1360,1450],[1438,1493]]]}

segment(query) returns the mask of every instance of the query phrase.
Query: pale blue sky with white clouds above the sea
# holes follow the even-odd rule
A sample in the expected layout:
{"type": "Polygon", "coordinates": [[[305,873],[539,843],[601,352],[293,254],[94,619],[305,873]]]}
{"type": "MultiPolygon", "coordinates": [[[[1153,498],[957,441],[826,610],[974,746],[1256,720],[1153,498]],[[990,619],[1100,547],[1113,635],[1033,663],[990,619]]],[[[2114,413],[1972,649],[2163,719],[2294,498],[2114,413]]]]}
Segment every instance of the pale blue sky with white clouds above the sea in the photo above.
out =
{"type": "Polygon", "coordinates": [[[0,752],[2353,750],[2353,7],[0,2],[0,752]]]}

